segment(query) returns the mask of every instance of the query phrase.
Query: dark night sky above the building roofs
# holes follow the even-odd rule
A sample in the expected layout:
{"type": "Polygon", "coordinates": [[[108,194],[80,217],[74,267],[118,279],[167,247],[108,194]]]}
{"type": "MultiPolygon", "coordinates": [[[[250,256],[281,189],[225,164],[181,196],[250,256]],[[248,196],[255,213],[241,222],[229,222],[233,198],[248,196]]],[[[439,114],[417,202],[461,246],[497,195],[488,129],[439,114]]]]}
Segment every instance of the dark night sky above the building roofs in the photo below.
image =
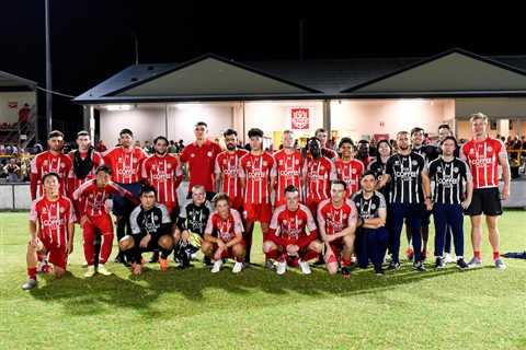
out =
{"type": "MultiPolygon", "coordinates": [[[[451,47],[480,55],[526,54],[518,7],[479,4],[467,12],[446,2],[420,8],[399,8],[400,1],[396,7],[379,1],[368,7],[216,2],[221,4],[50,0],[54,90],[78,95],[134,63],[134,33],[140,62],[184,61],[205,52],[237,60],[296,59],[300,19],[306,21],[306,59],[431,56],[451,47]]],[[[0,70],[44,86],[44,0],[2,1],[0,70]]],[[[44,103],[39,106],[42,114],[44,103]]],[[[54,115],[80,120],[81,108],[55,97],[54,115]]]]}

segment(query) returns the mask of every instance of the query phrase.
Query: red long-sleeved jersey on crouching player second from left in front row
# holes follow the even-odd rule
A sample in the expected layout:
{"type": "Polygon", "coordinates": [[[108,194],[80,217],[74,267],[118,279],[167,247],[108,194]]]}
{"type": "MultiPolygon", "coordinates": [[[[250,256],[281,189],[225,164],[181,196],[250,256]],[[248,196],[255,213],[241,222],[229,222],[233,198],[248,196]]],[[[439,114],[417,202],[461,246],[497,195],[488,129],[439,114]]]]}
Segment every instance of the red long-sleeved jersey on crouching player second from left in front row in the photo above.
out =
{"type": "Polygon", "coordinates": [[[99,188],[95,184],[95,179],[82,184],[82,186],[77,188],[73,192],[73,200],[76,202],[79,220],[84,214],[88,217],[101,217],[107,213],[105,208],[106,199],[115,194],[123,196],[137,205],[139,203],[139,200],[135,198],[130,191],[113,182],[108,183],[104,188],[99,188]]]}

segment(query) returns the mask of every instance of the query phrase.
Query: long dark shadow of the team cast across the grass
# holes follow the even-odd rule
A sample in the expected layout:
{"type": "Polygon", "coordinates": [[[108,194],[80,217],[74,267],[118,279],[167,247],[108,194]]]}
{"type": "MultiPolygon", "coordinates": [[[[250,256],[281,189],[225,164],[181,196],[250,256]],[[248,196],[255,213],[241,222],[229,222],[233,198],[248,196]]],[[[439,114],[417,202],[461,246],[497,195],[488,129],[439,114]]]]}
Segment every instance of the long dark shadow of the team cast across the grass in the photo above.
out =
{"type": "MultiPolygon", "coordinates": [[[[196,267],[160,271],[147,269],[139,278],[119,273],[90,279],[68,273],[62,279],[49,281],[31,291],[37,299],[64,304],[72,316],[107,313],[107,308],[130,308],[141,316],[158,317],[167,312],[178,315],[196,315],[214,310],[261,307],[300,303],[305,300],[362,295],[399,285],[410,285],[435,277],[457,272],[455,268],[442,271],[413,271],[409,266],[399,271],[378,277],[371,269],[355,269],[350,279],[330,276],[315,268],[312,275],[302,276],[296,269],[285,276],[252,266],[239,275],[230,265],[216,275],[196,264],[196,267]],[[124,275],[124,276],[121,276],[124,275]],[[158,302],[160,298],[171,298],[158,302]]],[[[464,272],[465,273],[465,272],[464,272]]]]}

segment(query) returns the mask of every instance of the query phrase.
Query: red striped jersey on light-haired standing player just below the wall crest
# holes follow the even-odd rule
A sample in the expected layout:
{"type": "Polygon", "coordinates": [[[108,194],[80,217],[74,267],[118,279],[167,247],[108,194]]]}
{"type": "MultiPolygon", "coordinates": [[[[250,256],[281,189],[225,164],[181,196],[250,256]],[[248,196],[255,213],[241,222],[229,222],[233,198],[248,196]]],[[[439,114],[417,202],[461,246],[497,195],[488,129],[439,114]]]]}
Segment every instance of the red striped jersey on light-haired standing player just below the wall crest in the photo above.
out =
{"type": "Polygon", "coordinates": [[[304,159],[301,152],[295,150],[294,153],[287,154],[285,150],[274,153],[276,161],[277,188],[276,188],[276,207],[285,203],[285,188],[294,185],[299,189],[299,198],[301,199],[301,170],[304,168],[304,159]]]}

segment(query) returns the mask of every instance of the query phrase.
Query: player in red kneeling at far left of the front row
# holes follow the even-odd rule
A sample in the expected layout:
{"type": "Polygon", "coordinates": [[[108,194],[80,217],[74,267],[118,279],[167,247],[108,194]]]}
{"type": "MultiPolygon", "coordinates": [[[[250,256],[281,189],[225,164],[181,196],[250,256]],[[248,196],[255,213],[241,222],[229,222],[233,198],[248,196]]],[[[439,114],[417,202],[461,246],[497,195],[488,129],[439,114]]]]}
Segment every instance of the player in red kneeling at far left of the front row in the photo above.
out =
{"type": "Polygon", "coordinates": [[[34,200],[30,213],[30,242],[27,244],[27,281],[23,290],[37,285],[38,255],[49,256],[55,277],[66,272],[68,255],[73,252],[75,210],[71,201],[60,194],[60,176],[46,173],[42,177],[44,196],[34,200]]]}

